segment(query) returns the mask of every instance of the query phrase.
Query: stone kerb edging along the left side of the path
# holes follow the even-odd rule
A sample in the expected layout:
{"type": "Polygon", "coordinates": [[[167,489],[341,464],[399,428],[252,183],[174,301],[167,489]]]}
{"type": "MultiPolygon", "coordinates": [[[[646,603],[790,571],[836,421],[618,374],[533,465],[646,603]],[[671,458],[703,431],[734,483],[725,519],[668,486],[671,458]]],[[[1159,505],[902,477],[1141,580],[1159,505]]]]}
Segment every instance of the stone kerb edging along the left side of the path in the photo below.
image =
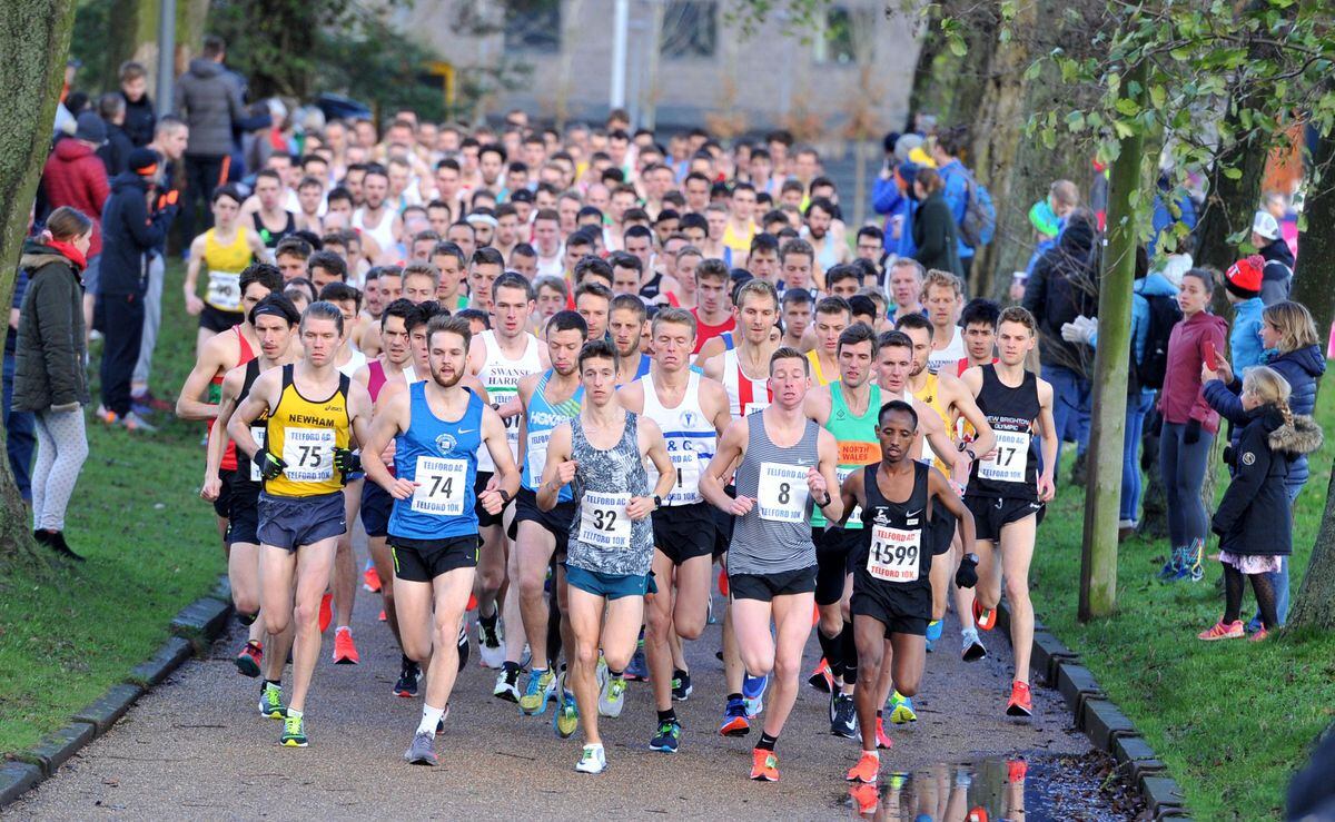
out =
{"type": "Polygon", "coordinates": [[[180,610],[171,621],[172,635],[152,658],[135,666],[124,682],[107,689],[99,699],[75,711],[71,723],[43,737],[37,745],[19,751],[0,767],[0,807],[19,799],[49,779],[89,742],[109,731],[146,693],[162,685],[172,671],[210,643],[227,627],[232,604],[227,576],[214,590],[180,610]]]}

